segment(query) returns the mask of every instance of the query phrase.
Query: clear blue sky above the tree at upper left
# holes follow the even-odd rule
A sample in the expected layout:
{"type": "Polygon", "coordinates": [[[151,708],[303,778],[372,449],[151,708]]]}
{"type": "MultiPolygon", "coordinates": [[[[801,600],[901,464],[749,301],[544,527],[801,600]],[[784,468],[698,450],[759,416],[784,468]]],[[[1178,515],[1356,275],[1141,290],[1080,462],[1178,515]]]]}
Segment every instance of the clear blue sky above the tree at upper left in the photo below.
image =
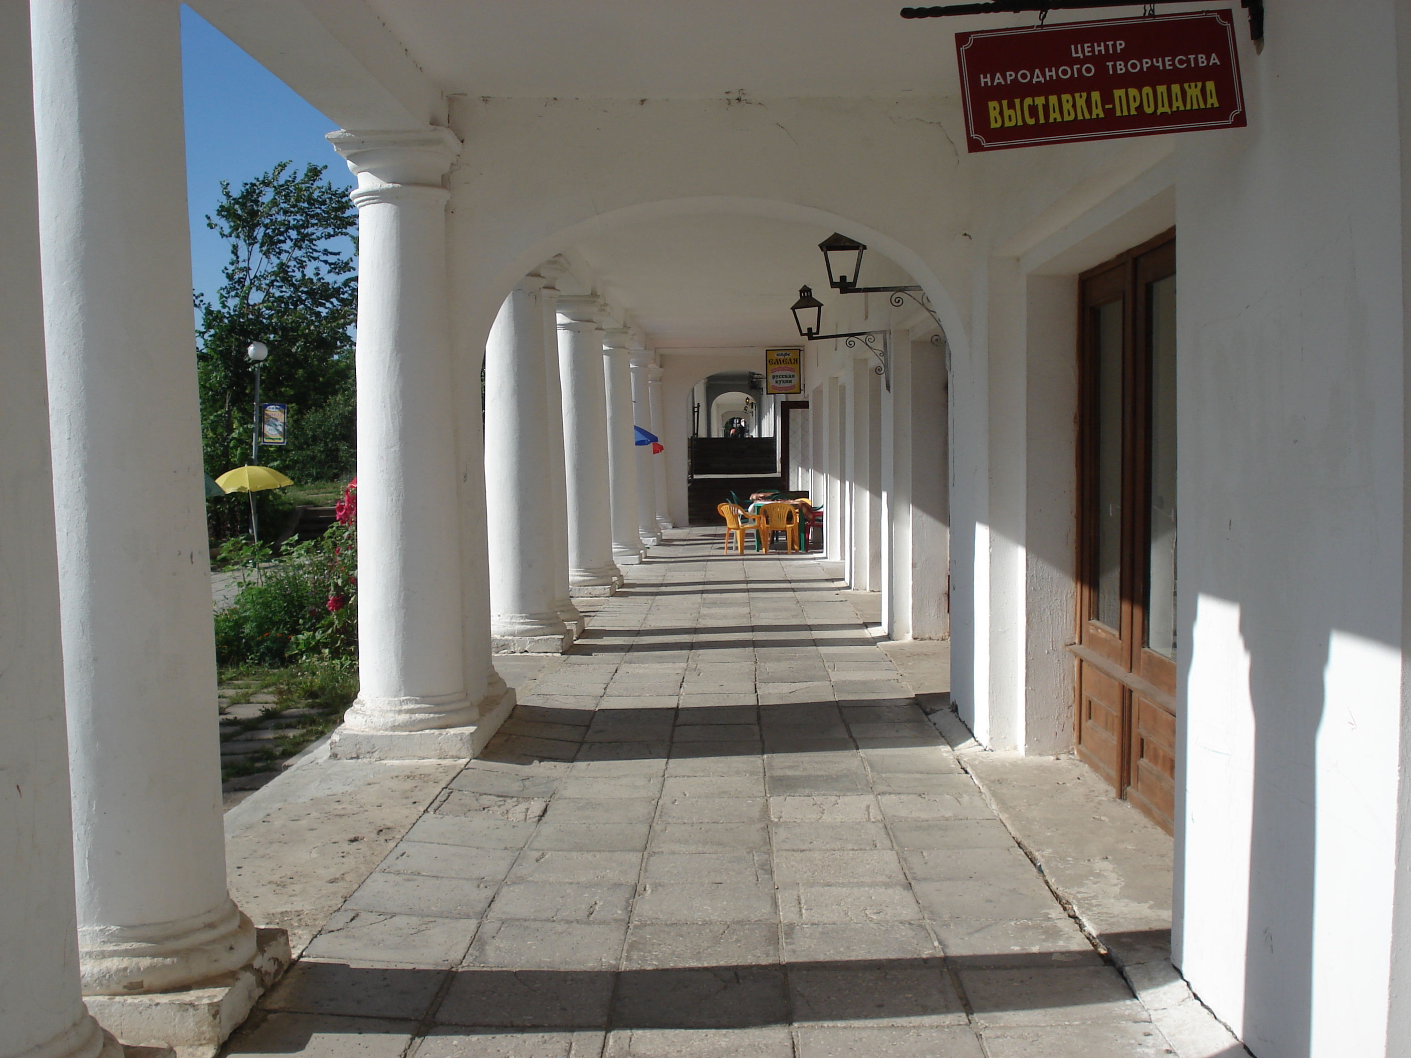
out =
{"type": "Polygon", "coordinates": [[[188,7],[181,35],[192,274],[196,289],[209,295],[229,255],[206,227],[222,181],[238,186],[285,159],[299,169],[327,165],[325,179],[341,186],[353,186],[353,174],[323,138],[334,124],[188,7]]]}

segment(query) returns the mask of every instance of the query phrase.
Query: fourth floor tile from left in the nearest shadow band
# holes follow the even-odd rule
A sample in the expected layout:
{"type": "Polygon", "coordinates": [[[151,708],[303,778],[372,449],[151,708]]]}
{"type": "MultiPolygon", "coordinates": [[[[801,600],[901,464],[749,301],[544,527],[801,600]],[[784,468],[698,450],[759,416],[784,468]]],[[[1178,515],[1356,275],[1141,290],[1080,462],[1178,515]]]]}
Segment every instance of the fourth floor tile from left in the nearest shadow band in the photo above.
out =
{"type": "Polygon", "coordinates": [[[940,959],[789,968],[794,1024],[965,1024],[940,959]]]}

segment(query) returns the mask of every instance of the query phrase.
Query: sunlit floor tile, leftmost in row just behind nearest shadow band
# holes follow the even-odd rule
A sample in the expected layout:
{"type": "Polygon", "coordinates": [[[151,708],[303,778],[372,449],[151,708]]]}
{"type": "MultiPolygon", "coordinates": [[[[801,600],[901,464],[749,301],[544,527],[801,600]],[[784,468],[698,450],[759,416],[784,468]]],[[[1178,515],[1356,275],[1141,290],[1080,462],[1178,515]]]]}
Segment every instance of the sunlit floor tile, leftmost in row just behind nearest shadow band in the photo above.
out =
{"type": "Polygon", "coordinates": [[[325,961],[401,962],[439,968],[460,962],[478,923],[468,918],[336,911],[305,955],[325,961]]]}

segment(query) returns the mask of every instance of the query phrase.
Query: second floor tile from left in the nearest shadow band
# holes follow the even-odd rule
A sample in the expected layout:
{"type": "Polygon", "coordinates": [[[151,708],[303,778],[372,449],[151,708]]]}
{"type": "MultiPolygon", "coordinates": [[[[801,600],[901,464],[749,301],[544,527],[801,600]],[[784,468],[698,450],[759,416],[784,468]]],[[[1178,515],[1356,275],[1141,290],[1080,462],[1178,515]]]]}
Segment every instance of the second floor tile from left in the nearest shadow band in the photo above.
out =
{"type": "Polygon", "coordinates": [[[464,966],[454,972],[437,1024],[597,1028],[607,1026],[614,975],[605,971],[514,971],[464,966]]]}

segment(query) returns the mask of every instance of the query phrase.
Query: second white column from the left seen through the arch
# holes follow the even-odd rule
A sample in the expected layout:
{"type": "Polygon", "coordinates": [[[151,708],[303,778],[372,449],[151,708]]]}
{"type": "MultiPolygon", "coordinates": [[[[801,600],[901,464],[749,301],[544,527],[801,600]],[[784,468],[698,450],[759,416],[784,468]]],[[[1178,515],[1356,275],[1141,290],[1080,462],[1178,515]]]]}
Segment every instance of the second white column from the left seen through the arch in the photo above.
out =
{"type": "Polygon", "coordinates": [[[601,302],[591,295],[559,295],[569,585],[574,595],[611,595],[622,583],[622,571],[612,561],[601,310],[601,302]]]}

